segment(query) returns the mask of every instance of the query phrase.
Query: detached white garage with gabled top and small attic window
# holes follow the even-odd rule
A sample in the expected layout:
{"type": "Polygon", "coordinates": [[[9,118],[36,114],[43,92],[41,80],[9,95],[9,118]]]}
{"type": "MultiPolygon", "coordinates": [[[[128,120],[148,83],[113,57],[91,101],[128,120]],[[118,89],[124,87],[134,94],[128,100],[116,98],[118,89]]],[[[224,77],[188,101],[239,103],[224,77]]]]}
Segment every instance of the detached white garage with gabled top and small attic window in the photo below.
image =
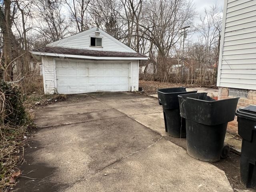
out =
{"type": "Polygon", "coordinates": [[[148,59],[96,27],[32,54],[42,58],[45,94],[137,91],[139,62],[148,59]]]}

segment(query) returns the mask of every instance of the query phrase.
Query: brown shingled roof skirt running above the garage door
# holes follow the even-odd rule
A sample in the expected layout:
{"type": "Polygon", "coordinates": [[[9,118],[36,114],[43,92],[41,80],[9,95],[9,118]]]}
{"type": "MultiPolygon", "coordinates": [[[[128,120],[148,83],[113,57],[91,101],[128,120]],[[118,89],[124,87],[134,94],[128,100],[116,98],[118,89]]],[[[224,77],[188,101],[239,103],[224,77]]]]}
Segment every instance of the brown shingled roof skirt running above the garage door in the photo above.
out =
{"type": "Polygon", "coordinates": [[[147,56],[144,56],[138,52],[98,51],[98,50],[86,50],[86,49],[74,49],[74,48],[50,47],[50,46],[34,49],[32,50],[32,53],[40,54],[40,55],[50,55],[50,56],[53,56],[51,54],[55,54],[55,56],[65,56],[65,57],[78,57],[78,56],[90,57],[91,56],[95,58],[118,57],[118,58],[148,59],[147,56]]]}

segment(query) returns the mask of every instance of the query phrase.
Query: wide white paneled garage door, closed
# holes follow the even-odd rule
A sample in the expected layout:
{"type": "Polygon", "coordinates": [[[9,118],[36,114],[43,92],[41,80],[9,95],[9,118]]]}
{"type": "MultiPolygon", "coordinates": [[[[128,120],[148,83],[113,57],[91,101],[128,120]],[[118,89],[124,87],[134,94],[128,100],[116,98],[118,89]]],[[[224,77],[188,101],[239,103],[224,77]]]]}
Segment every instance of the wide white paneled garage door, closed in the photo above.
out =
{"type": "Polygon", "coordinates": [[[62,94],[129,91],[129,73],[129,63],[56,60],[57,91],[62,94]]]}

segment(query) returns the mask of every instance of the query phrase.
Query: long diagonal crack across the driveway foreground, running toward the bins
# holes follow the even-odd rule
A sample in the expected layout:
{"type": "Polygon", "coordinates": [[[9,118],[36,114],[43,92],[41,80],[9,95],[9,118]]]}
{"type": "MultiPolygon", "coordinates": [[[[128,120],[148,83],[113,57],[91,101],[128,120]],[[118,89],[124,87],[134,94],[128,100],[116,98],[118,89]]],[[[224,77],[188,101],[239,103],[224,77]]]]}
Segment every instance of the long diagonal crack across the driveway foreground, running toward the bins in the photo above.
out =
{"type": "MultiPolygon", "coordinates": [[[[132,156],[132,155],[134,155],[134,154],[136,154],[136,153],[139,153],[139,152],[141,152],[141,151],[143,151],[143,150],[146,150],[146,149],[148,149],[148,148],[154,146],[154,145],[155,145],[160,139],[162,139],[162,138],[163,138],[163,136],[161,136],[161,137],[160,137],[158,140],[156,140],[156,142],[154,142],[153,144],[151,144],[151,145],[149,145],[149,146],[147,146],[147,147],[145,147],[145,148],[142,148],[142,149],[140,149],[140,150],[138,150],[138,151],[132,152],[131,154],[128,154],[127,156],[124,156],[124,157],[122,157],[122,158],[120,158],[120,159],[115,160],[114,162],[108,164],[107,166],[101,168],[100,170],[97,170],[96,172],[90,174],[90,176],[93,176],[93,175],[95,175],[95,174],[97,174],[97,173],[103,171],[104,169],[108,168],[109,166],[115,164],[116,162],[120,162],[120,161],[122,161],[122,160],[125,159],[125,158],[128,158],[128,157],[130,157],[130,156],[132,156]]],[[[89,177],[90,177],[90,176],[89,176],[89,177]]],[[[79,180],[77,180],[75,183],[73,183],[72,185],[70,185],[68,188],[64,189],[62,192],[65,192],[66,190],[68,190],[69,188],[71,188],[72,186],[74,186],[75,184],[77,184],[77,183],[79,183],[79,182],[81,182],[81,181],[84,181],[84,180],[87,180],[87,179],[85,178],[85,176],[82,176],[79,180]]]]}

